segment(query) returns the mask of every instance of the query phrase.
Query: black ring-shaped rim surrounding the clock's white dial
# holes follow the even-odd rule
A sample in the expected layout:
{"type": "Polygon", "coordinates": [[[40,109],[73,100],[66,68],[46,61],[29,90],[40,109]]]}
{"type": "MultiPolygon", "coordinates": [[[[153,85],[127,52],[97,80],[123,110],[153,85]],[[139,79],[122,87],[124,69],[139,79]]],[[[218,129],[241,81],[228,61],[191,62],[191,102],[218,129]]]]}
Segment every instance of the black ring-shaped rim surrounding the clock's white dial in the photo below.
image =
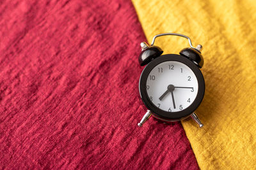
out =
{"type": "Polygon", "coordinates": [[[140,90],[140,96],[143,103],[148,108],[148,110],[152,111],[152,114],[154,117],[157,117],[163,121],[173,122],[173,121],[182,120],[183,118],[189,117],[189,115],[191,115],[196,110],[196,108],[198,108],[198,106],[202,102],[202,99],[204,98],[205,81],[204,81],[204,76],[202,75],[200,69],[198,68],[198,66],[196,66],[196,64],[192,60],[189,60],[186,57],[183,57],[182,55],[166,54],[166,55],[161,55],[156,59],[152,60],[143,69],[140,76],[139,90],[140,90]],[[162,62],[166,62],[166,61],[177,61],[185,64],[193,71],[193,73],[195,73],[196,79],[198,81],[198,93],[193,103],[191,103],[190,106],[188,106],[188,108],[181,111],[175,111],[173,113],[157,108],[157,106],[155,106],[152,103],[152,101],[150,101],[147,94],[148,74],[150,74],[150,71],[152,71],[152,69],[154,69],[154,67],[156,67],[158,64],[161,64],[162,62]]]}

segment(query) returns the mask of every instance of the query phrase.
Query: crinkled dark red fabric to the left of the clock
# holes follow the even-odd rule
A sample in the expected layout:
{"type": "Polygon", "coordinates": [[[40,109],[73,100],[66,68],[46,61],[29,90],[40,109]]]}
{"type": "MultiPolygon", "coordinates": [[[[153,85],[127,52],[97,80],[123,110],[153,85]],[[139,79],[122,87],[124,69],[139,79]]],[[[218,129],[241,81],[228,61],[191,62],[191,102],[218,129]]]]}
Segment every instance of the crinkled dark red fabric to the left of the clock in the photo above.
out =
{"type": "Polygon", "coordinates": [[[0,25],[1,169],[198,169],[179,123],[137,127],[130,1],[1,1],[0,25]]]}

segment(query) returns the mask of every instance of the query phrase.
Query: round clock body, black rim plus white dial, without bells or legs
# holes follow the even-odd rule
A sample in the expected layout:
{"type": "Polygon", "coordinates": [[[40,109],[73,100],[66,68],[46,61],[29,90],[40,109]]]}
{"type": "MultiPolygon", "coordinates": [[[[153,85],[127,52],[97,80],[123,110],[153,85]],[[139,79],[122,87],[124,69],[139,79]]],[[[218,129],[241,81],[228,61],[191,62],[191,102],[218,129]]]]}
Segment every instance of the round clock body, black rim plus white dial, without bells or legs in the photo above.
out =
{"type": "Polygon", "coordinates": [[[145,67],[140,95],[147,108],[159,117],[180,120],[204,97],[204,77],[191,60],[180,55],[162,55],[145,67]]]}

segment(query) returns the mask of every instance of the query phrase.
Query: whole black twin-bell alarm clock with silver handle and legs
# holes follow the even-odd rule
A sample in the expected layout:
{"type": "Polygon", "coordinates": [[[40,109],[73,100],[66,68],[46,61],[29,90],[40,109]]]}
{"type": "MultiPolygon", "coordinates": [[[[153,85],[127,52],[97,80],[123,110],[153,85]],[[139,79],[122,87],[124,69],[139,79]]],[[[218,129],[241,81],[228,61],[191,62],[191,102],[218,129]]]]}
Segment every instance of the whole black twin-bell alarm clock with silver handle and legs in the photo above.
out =
{"type": "Polygon", "coordinates": [[[187,117],[193,118],[199,127],[203,127],[195,113],[202,102],[205,92],[205,81],[200,68],[204,65],[202,45],[193,47],[188,36],[177,33],[164,33],[154,36],[151,45],[141,43],[139,62],[145,66],[140,76],[140,97],[147,113],[139,127],[150,118],[163,122],[175,122],[187,117]],[[180,36],[188,39],[189,48],[178,54],[162,55],[163,50],[154,46],[159,36],[180,36]]]}

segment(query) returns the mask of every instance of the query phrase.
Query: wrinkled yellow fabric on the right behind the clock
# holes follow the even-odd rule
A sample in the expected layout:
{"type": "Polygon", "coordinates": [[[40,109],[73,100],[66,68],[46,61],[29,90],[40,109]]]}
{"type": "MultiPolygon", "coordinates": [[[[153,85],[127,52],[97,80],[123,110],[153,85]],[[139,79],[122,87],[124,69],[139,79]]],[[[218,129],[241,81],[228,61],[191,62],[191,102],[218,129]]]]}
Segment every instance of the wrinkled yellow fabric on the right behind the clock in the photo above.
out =
{"type": "MultiPolygon", "coordinates": [[[[256,169],[255,1],[132,1],[151,43],[154,35],[179,32],[203,45],[205,97],[197,110],[204,123],[182,121],[201,169],[256,169]]],[[[189,46],[161,37],[164,53],[189,46]]]]}

